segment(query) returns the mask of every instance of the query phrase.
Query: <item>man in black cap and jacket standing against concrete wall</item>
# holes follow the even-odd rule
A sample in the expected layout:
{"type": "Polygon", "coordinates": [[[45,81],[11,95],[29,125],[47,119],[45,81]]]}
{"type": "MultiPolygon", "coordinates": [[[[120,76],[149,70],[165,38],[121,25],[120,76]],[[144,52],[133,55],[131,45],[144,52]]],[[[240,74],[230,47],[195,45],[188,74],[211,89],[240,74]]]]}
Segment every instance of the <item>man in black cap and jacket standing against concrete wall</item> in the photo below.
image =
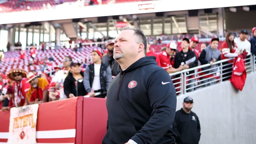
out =
{"type": "Polygon", "coordinates": [[[196,113],[192,112],[193,99],[185,97],[183,107],[175,114],[173,130],[177,134],[177,144],[198,144],[201,136],[200,122],[196,113]]]}

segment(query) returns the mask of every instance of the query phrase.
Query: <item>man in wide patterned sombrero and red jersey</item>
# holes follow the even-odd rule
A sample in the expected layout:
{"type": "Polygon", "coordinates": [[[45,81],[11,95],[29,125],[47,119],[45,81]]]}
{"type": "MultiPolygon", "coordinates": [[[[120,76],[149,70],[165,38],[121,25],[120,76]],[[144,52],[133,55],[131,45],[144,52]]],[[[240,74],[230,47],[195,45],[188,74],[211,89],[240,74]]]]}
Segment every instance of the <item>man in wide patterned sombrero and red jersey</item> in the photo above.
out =
{"type": "Polygon", "coordinates": [[[8,71],[7,78],[15,81],[12,86],[14,89],[14,97],[11,98],[9,102],[10,107],[27,105],[26,93],[30,88],[30,84],[26,83],[26,76],[27,71],[23,69],[12,69],[8,71]]]}

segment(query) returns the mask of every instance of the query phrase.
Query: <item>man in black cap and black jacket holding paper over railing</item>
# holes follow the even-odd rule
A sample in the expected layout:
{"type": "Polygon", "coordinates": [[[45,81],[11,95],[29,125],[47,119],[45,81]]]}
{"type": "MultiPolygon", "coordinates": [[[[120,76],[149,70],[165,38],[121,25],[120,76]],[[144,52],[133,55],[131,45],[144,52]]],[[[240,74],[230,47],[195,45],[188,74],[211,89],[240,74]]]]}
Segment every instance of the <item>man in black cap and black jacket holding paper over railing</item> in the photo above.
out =
{"type": "MultiPolygon", "coordinates": [[[[184,69],[194,68],[198,65],[196,53],[194,53],[192,50],[190,50],[189,47],[189,39],[183,38],[181,42],[181,52],[176,53],[175,55],[175,61],[174,61],[174,68],[178,68],[180,65],[183,65],[184,69]]],[[[191,88],[194,86],[194,83],[196,80],[192,79],[194,78],[194,70],[189,71],[188,78],[191,79],[189,81],[189,84],[187,85],[187,91],[193,91],[194,88],[191,88]]]]}

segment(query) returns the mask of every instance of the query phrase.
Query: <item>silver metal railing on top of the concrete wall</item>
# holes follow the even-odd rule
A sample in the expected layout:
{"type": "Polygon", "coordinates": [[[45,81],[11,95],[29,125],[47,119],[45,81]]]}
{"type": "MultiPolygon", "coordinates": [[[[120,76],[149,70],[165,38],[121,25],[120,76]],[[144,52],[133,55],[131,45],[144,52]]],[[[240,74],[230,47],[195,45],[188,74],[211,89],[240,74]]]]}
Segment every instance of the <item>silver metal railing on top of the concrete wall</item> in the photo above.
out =
{"type": "MultiPolygon", "coordinates": [[[[176,94],[186,94],[187,90],[197,89],[198,87],[201,87],[201,86],[213,85],[215,83],[222,82],[223,79],[225,79],[225,78],[229,78],[230,75],[225,75],[225,74],[232,73],[232,71],[229,69],[231,69],[233,63],[225,63],[225,62],[228,62],[229,60],[232,60],[232,59],[234,59],[234,58],[229,58],[229,59],[224,59],[224,60],[219,60],[217,62],[214,62],[213,65],[218,64],[219,71],[210,71],[210,70],[214,70],[216,68],[209,68],[206,70],[197,71],[196,73],[190,73],[190,74],[188,73],[193,70],[198,70],[198,69],[202,69],[202,68],[211,66],[210,64],[204,64],[204,65],[196,66],[194,68],[185,69],[182,71],[177,71],[175,73],[169,74],[171,77],[180,75],[179,77],[172,79],[173,81],[175,81],[174,85],[176,85],[176,87],[175,87],[176,94]],[[225,64],[223,64],[223,63],[225,63],[225,64]],[[224,66],[225,66],[225,68],[223,68],[224,66]],[[224,71],[224,73],[223,73],[223,71],[224,71]],[[189,77],[189,78],[187,78],[187,77],[189,77]],[[180,80],[180,81],[176,81],[176,80],[180,80]],[[193,81],[190,81],[190,80],[193,80],[193,81]],[[187,82],[189,82],[189,83],[187,84],[187,82]]],[[[255,70],[256,69],[256,63],[255,63],[256,57],[254,54],[250,55],[249,58],[245,58],[244,62],[245,62],[245,68],[246,68],[247,72],[254,73],[256,71],[255,70]]]]}

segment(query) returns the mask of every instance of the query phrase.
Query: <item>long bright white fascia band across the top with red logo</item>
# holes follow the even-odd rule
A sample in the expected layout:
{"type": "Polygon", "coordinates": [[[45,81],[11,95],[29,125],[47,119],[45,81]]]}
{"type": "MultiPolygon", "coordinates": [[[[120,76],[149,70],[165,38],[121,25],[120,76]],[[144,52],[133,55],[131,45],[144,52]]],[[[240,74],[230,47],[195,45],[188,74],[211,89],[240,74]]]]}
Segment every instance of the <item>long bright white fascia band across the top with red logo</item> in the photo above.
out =
{"type": "Polygon", "coordinates": [[[223,0],[215,0],[214,2],[209,2],[206,0],[153,0],[94,6],[66,5],[56,6],[55,8],[47,10],[1,13],[0,24],[65,20],[74,18],[89,18],[128,14],[145,14],[153,12],[182,11],[249,5],[256,5],[256,1],[244,0],[230,2],[223,0]]]}

